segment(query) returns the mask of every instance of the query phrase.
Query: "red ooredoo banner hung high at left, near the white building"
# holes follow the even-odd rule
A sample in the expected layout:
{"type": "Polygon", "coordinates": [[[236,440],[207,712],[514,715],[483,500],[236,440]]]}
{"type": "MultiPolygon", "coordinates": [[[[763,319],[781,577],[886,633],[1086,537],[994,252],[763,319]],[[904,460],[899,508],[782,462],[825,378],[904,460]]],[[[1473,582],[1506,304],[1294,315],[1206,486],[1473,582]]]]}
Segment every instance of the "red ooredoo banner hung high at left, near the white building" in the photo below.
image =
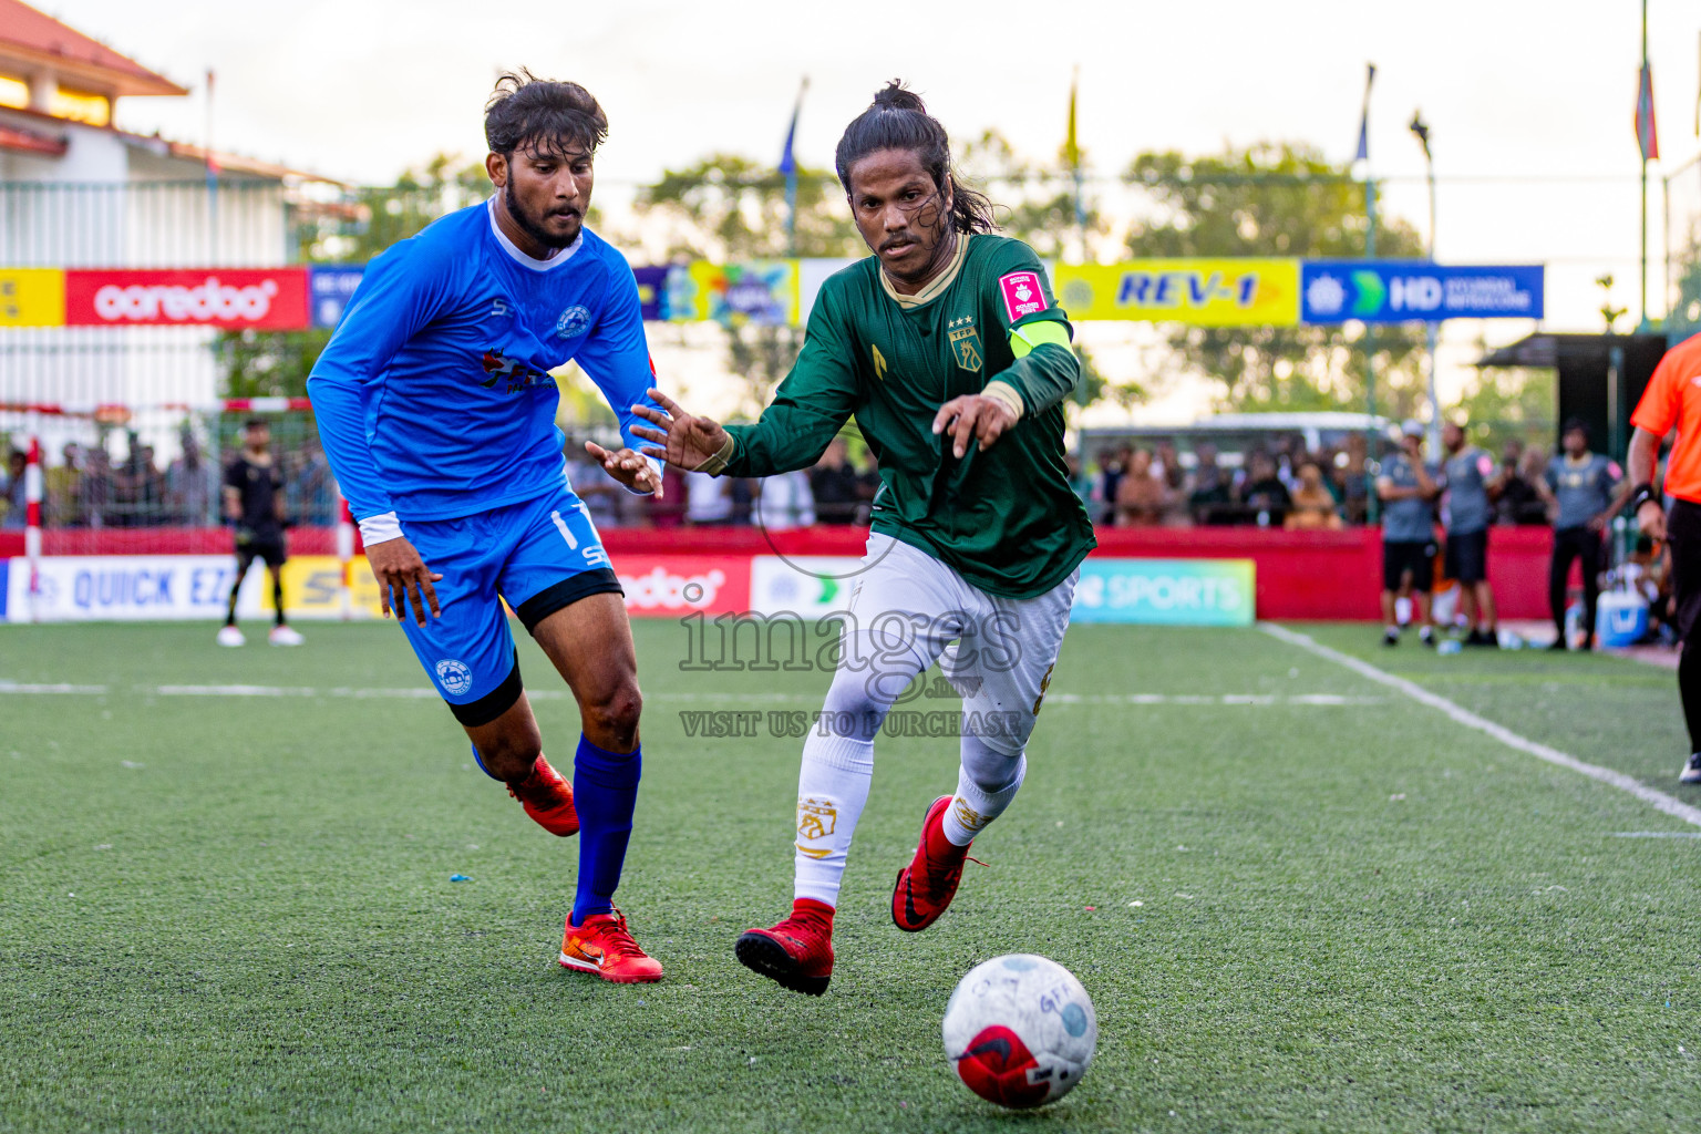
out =
{"type": "Polygon", "coordinates": [[[299,330],[308,325],[308,272],[299,267],[68,270],[65,323],[299,330]]]}

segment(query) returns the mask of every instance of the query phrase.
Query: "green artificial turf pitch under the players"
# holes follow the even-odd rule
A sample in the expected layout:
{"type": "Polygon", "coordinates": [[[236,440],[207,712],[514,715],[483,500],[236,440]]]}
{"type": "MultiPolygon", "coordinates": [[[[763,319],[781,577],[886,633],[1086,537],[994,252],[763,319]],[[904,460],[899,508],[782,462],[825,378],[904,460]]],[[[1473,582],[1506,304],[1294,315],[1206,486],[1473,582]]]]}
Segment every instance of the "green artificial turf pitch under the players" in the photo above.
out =
{"type": "MultiPolygon", "coordinates": [[[[1701,802],[1669,673],[1300,629],[1701,802]]],[[[667,979],[612,986],[553,964],[575,842],[395,692],[425,689],[396,629],[304,632],[0,627],[0,682],[85,687],[0,690],[0,1131],[1701,1127],[1701,840],[1621,836],[1701,828],[1255,629],[1072,629],[988,865],[920,935],[890,886],[956,745],[883,740],[820,1000],[731,955],[789,903],[799,741],[680,714],[810,711],[823,673],[682,672],[682,627],[636,626],[619,903],[667,979]],[[1036,1114],[939,1039],[956,979],[1017,950],[1099,1012],[1036,1114]]],[[[536,707],[570,765],[572,702],[536,707]]]]}

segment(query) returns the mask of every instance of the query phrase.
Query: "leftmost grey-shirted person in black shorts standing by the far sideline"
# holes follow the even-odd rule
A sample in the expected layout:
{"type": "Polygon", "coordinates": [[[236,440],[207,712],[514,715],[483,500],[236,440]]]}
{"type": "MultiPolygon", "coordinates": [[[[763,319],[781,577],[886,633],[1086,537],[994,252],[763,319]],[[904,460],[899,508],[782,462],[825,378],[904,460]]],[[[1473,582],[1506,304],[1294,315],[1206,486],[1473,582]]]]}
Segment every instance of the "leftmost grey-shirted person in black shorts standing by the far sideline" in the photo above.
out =
{"type": "Polygon", "coordinates": [[[1383,461],[1376,498],[1383,503],[1383,644],[1400,644],[1395,600],[1412,597],[1419,638],[1436,644],[1429,592],[1436,585],[1436,468],[1424,461],[1424,427],[1402,427],[1400,451],[1383,461]]]}

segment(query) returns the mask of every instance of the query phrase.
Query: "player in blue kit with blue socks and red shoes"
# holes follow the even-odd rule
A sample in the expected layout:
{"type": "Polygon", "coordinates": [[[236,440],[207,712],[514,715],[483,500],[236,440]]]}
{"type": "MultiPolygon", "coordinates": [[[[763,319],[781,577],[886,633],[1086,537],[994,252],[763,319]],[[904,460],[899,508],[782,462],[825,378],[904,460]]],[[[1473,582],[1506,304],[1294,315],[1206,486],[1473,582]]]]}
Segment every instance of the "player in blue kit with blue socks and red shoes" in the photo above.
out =
{"type": "Polygon", "coordinates": [[[631,434],[653,384],[638,286],[583,226],[606,134],[583,87],[505,75],[485,111],[495,196],[373,260],[308,393],[384,614],[480,767],[548,831],[580,836],[561,964],[633,983],[662,979],[612,901],[641,767],[638,665],[621,585],[566,481],[549,377],[578,362],[624,439],[587,449],[660,496],[662,468],[631,434]],[[503,598],[578,700],[572,787],[543,757],[503,598]]]}

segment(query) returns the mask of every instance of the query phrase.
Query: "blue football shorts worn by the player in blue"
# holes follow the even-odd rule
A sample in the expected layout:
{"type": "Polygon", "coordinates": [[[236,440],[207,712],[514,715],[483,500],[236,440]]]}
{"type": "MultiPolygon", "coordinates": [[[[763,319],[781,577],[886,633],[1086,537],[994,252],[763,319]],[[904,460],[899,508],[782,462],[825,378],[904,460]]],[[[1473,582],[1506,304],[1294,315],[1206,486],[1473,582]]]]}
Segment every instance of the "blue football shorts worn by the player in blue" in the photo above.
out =
{"type": "Polygon", "coordinates": [[[476,728],[519,700],[519,651],[502,600],[527,632],[587,595],[624,593],[583,502],[565,485],[456,520],[401,520],[434,583],[439,617],[413,621],[403,595],[391,595],[401,629],[454,717],[476,728]]]}

